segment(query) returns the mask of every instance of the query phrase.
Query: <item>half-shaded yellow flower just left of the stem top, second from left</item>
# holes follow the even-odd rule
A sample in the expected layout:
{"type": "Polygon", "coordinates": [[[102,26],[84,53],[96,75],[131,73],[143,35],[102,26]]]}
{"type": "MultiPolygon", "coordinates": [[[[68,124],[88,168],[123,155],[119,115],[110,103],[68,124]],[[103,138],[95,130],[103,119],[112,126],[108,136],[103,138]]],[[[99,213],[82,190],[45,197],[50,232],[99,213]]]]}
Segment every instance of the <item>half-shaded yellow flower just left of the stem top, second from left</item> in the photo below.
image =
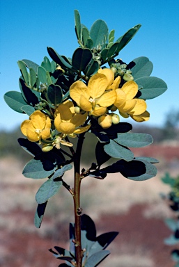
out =
{"type": "Polygon", "coordinates": [[[75,107],[70,100],[60,104],[54,113],[54,125],[60,133],[75,137],[75,134],[84,133],[91,125],[80,127],[86,122],[87,113],[75,113],[75,107]]]}

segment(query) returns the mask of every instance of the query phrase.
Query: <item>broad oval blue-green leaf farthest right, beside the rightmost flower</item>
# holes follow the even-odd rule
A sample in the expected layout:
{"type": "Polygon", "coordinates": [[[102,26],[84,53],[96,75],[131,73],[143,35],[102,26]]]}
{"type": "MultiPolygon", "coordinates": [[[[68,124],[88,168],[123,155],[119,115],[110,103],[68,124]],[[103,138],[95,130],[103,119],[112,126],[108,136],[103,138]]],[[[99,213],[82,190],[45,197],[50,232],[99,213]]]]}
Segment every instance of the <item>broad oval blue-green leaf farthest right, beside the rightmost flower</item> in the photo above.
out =
{"type": "Polygon", "coordinates": [[[166,83],[157,77],[142,77],[135,81],[138,85],[142,86],[142,89],[139,89],[141,92],[141,99],[153,99],[162,95],[166,89],[166,83]]]}

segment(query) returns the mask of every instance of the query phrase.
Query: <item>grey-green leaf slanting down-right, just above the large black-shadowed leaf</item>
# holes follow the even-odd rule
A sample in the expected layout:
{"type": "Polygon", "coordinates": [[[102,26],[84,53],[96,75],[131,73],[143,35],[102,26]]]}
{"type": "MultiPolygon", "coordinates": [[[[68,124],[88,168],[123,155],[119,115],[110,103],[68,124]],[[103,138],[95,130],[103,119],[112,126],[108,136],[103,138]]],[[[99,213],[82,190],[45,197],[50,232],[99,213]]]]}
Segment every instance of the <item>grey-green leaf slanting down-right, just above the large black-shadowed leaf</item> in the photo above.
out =
{"type": "Polygon", "coordinates": [[[114,140],[110,140],[110,143],[104,145],[104,152],[115,159],[124,159],[125,161],[132,161],[134,154],[127,147],[119,145],[114,140]]]}

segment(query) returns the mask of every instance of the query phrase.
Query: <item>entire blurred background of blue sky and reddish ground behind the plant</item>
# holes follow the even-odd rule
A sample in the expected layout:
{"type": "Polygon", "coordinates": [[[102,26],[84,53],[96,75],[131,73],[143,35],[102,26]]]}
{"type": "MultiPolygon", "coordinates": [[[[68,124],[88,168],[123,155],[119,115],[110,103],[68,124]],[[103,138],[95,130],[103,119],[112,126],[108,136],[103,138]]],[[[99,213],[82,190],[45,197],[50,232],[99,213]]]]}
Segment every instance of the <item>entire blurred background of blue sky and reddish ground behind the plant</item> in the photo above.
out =
{"type": "MultiPolygon", "coordinates": [[[[68,225],[73,222],[72,198],[61,188],[49,200],[40,229],[33,225],[35,195],[45,181],[22,175],[31,156],[18,145],[22,137],[20,124],[26,115],[15,113],[3,100],[8,90],[19,90],[17,60],[22,58],[40,64],[47,56],[47,46],[59,54],[72,56],[77,48],[74,9],[88,29],[95,19],[104,19],[116,30],[116,39],[136,24],[141,29],[120,53],[126,63],[147,56],[154,64],[152,76],[163,79],[168,90],[149,100],[149,122],[136,124],[133,131],[150,133],[153,145],[132,149],[135,156],[159,159],[158,174],[148,181],[130,181],[120,174],[104,180],[88,177],[81,189],[83,212],[95,221],[98,235],[107,231],[120,234],[111,243],[111,254],[100,266],[107,267],[173,267],[171,247],[164,238],[171,232],[164,224],[173,214],[160,193],[169,192],[161,181],[166,172],[179,175],[179,105],[178,105],[178,1],[0,1],[0,266],[58,266],[49,248],[68,248],[68,225]],[[62,233],[62,234],[61,234],[62,233]]],[[[93,135],[84,143],[83,163],[95,162],[93,135]]],[[[87,138],[86,138],[87,140],[87,138]]],[[[72,186],[72,172],[66,181],[72,186]]]]}

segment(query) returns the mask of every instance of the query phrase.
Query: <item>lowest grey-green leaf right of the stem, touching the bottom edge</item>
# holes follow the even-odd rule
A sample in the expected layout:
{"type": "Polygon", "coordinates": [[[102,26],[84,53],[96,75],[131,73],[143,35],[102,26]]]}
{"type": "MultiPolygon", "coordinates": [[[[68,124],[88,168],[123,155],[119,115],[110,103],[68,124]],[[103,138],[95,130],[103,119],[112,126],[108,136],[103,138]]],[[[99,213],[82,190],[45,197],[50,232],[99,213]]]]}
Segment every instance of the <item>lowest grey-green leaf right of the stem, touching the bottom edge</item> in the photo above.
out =
{"type": "Polygon", "coordinates": [[[100,264],[108,255],[110,254],[109,250],[101,250],[91,255],[86,261],[85,267],[95,267],[100,264]]]}

